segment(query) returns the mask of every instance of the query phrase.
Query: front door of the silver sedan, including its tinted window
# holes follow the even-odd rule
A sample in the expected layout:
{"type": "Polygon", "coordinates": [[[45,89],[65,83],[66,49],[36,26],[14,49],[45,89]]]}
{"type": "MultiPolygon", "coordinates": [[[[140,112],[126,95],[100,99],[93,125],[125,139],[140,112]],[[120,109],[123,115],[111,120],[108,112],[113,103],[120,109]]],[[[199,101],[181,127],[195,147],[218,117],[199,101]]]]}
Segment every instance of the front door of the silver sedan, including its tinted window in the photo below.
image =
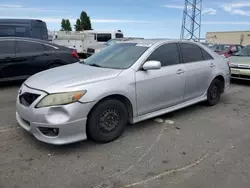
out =
{"type": "Polygon", "coordinates": [[[136,72],[136,97],[139,116],[183,101],[185,67],[180,63],[179,57],[176,43],[163,44],[156,48],[145,61],[160,61],[161,69],[136,72]]]}

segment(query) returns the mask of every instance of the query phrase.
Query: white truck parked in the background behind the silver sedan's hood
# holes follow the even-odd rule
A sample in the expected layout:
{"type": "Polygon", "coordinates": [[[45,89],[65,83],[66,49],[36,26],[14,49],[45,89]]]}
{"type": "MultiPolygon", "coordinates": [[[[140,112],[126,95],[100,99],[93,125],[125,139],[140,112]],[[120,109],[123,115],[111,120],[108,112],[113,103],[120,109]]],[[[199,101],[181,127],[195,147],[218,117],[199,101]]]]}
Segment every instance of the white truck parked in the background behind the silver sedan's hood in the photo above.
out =
{"type": "Polygon", "coordinates": [[[94,46],[102,46],[105,42],[114,38],[123,38],[123,33],[117,31],[56,31],[52,42],[68,48],[76,49],[79,54],[87,54],[87,49],[94,46]]]}

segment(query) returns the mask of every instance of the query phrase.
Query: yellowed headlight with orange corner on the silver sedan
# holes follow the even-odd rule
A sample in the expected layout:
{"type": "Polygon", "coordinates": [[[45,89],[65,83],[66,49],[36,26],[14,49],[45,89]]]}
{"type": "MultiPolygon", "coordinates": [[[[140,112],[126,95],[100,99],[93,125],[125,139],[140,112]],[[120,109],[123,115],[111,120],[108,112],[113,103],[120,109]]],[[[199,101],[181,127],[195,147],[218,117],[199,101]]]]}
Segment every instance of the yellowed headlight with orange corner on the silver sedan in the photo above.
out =
{"type": "Polygon", "coordinates": [[[66,105],[78,101],[87,91],[75,91],[68,93],[55,93],[44,97],[38,104],[37,108],[66,105]]]}

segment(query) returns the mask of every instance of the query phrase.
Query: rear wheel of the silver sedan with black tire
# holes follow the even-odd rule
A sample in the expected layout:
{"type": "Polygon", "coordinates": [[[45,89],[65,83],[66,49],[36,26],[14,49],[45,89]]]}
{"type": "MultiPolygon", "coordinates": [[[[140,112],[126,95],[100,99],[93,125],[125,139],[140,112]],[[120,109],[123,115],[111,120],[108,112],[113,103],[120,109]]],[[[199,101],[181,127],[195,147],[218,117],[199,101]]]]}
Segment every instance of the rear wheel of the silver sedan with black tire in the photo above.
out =
{"type": "Polygon", "coordinates": [[[208,91],[207,91],[207,104],[209,106],[216,105],[222,93],[222,82],[218,79],[214,79],[210,84],[208,91]]]}

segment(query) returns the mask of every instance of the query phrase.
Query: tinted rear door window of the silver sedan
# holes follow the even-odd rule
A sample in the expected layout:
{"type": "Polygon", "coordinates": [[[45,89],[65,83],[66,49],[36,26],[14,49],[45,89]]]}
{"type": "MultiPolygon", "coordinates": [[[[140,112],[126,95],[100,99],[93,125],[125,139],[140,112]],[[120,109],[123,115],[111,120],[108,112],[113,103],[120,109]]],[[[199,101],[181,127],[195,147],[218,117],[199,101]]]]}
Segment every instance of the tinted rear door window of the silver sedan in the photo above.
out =
{"type": "Polygon", "coordinates": [[[203,61],[203,55],[199,46],[195,44],[181,43],[180,44],[183,63],[203,61]]]}

